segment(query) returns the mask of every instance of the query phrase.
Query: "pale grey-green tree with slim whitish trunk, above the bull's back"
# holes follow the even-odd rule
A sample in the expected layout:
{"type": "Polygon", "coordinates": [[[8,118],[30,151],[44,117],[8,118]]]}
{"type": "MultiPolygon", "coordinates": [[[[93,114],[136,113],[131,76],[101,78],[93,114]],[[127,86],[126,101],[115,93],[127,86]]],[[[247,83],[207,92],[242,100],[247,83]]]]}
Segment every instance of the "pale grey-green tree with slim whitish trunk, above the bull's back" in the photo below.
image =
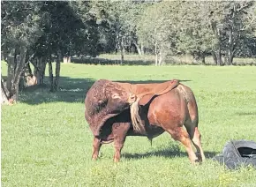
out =
{"type": "Polygon", "coordinates": [[[176,43],[176,7],[180,2],[161,2],[148,6],[141,14],[137,34],[139,43],[154,51],[155,66],[161,65],[176,43]]]}

